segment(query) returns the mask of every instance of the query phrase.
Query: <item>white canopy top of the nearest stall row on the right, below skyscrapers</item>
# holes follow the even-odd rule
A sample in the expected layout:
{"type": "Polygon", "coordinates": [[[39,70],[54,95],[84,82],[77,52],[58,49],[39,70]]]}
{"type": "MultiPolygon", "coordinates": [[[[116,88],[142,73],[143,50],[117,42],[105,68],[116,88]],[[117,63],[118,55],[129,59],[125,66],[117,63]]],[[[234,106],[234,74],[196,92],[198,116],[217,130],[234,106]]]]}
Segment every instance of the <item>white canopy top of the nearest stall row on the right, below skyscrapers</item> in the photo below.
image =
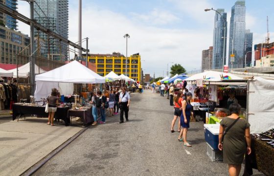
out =
{"type": "MultiPolygon", "coordinates": [[[[228,77],[230,80],[243,80],[243,78],[240,78],[238,76],[235,76],[231,73],[224,73],[224,72],[218,72],[218,71],[205,71],[203,73],[198,73],[195,75],[190,76],[189,78],[186,78],[185,81],[196,81],[196,80],[204,80],[204,81],[222,81],[222,77],[228,77]]],[[[226,79],[226,78],[224,78],[226,79]]]]}

